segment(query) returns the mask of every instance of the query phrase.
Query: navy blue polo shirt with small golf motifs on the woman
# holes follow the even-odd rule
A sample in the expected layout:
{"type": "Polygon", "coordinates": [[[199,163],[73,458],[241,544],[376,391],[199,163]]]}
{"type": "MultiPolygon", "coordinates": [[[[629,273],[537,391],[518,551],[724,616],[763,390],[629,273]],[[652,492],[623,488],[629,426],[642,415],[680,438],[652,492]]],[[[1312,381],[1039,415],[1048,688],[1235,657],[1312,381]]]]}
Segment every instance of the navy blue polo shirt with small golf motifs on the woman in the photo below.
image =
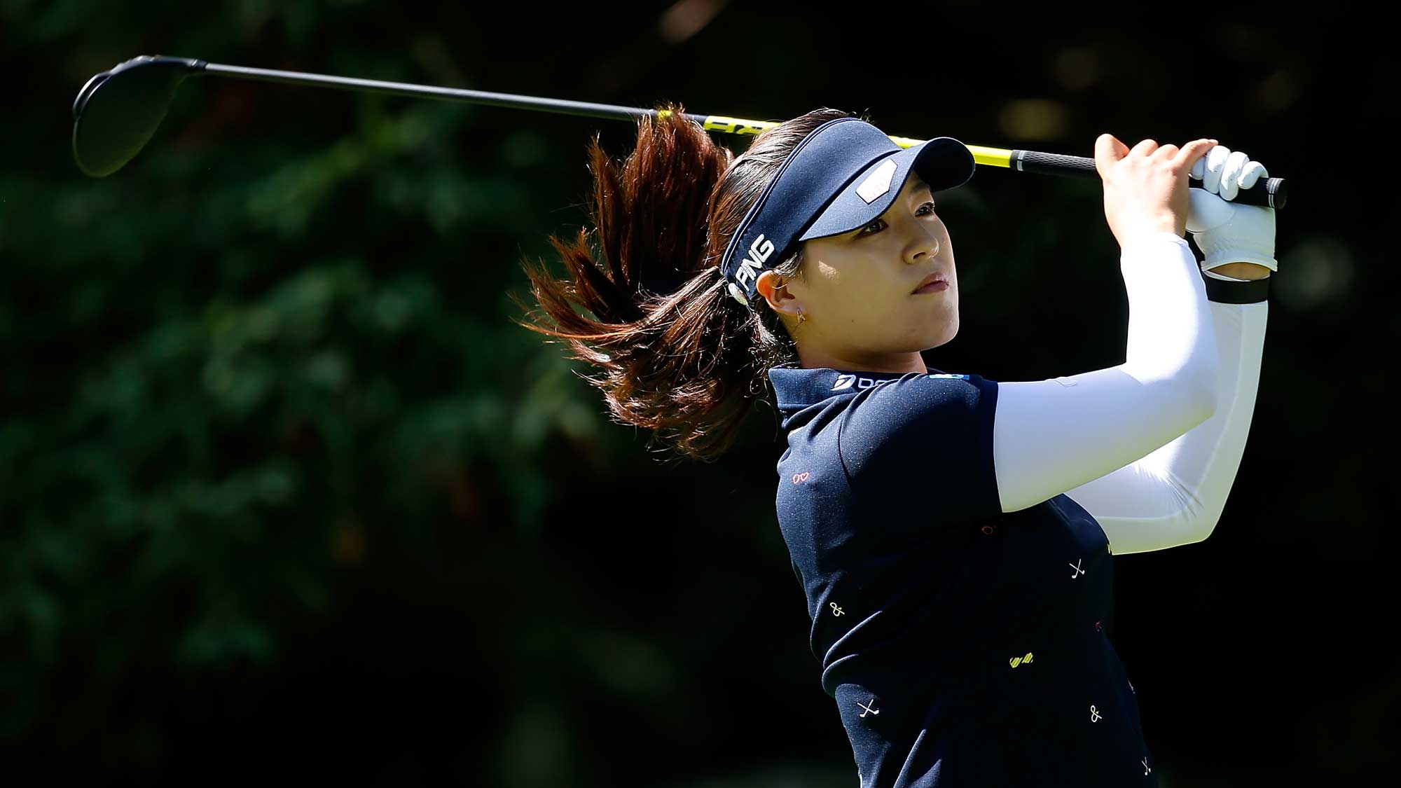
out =
{"type": "Polygon", "coordinates": [[[1112,554],[1056,495],[1003,513],[998,383],[769,370],[778,519],[862,788],[1157,785],[1104,623],[1112,554]]]}

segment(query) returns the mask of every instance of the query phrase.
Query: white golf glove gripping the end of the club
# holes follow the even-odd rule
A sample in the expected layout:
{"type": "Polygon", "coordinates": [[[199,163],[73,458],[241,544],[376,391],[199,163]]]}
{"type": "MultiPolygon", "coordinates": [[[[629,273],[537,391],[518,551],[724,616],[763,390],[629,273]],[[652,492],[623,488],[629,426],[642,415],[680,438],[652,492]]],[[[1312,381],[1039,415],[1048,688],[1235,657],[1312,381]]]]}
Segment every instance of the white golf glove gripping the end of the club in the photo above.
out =
{"type": "Polygon", "coordinates": [[[1279,271],[1275,261],[1275,209],[1230,202],[1269,172],[1244,153],[1213,147],[1192,165],[1202,188],[1187,191],[1187,230],[1202,250],[1202,271],[1229,262],[1254,262],[1279,271]]]}

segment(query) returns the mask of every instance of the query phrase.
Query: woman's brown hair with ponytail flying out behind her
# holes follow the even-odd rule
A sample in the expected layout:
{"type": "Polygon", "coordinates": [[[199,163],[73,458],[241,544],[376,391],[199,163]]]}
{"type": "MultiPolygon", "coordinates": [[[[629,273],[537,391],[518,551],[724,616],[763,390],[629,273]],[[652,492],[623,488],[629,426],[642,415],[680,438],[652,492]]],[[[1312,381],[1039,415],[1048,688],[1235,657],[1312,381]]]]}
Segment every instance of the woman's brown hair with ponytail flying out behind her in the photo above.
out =
{"type": "MultiPolygon", "coordinates": [[[[681,107],[665,109],[639,121],[637,146],[621,163],[594,137],[594,231],[567,243],[551,237],[569,279],[523,262],[545,315],[513,299],[531,318],[520,325],[565,339],[572,358],[600,370],[587,380],[616,421],[715,460],[738,437],[751,400],[766,395],[768,369],[797,363],[768,301],[755,299],[751,311],[730,296],[719,268],[724,247],[789,151],[848,114],[808,112],[764,132],[736,158],[681,107]]],[[[800,276],[801,262],[794,254],[773,271],[800,276]]]]}

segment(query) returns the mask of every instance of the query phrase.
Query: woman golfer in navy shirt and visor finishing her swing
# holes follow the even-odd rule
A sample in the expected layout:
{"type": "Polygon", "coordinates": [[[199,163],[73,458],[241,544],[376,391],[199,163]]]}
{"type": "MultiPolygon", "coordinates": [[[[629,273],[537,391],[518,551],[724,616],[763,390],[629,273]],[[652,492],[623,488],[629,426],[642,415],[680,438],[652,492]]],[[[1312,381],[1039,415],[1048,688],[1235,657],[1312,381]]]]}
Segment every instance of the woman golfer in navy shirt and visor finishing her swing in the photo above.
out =
{"type": "Polygon", "coordinates": [[[974,174],[960,142],[822,109],[734,157],[672,108],[591,163],[597,234],[555,240],[567,280],[525,265],[551,318],[528,327],[698,458],[772,384],[778,523],[862,787],[1156,785],[1111,562],[1206,538],[1226,503],[1276,269],[1274,212],[1230,201],[1264,167],[1100,136],[1125,362],[1005,383],[920,359],[958,332],[936,195],[974,174]]]}

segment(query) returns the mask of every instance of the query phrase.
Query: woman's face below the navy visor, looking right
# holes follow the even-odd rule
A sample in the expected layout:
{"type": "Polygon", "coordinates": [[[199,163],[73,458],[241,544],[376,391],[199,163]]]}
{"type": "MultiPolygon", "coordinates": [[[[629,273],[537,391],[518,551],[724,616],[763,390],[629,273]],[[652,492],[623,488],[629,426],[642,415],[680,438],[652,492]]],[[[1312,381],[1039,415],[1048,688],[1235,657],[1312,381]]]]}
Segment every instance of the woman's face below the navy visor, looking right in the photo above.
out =
{"type": "MultiPolygon", "coordinates": [[[[894,205],[866,227],[804,241],[803,276],[779,304],[804,366],[895,369],[909,353],[948,342],[958,332],[958,276],[948,229],[929,186],[911,175],[894,205]],[[948,287],[915,293],[930,273],[948,287]]],[[[918,362],[918,359],[916,359],[918,362]]],[[[916,369],[923,369],[916,365],[916,369]]]]}

